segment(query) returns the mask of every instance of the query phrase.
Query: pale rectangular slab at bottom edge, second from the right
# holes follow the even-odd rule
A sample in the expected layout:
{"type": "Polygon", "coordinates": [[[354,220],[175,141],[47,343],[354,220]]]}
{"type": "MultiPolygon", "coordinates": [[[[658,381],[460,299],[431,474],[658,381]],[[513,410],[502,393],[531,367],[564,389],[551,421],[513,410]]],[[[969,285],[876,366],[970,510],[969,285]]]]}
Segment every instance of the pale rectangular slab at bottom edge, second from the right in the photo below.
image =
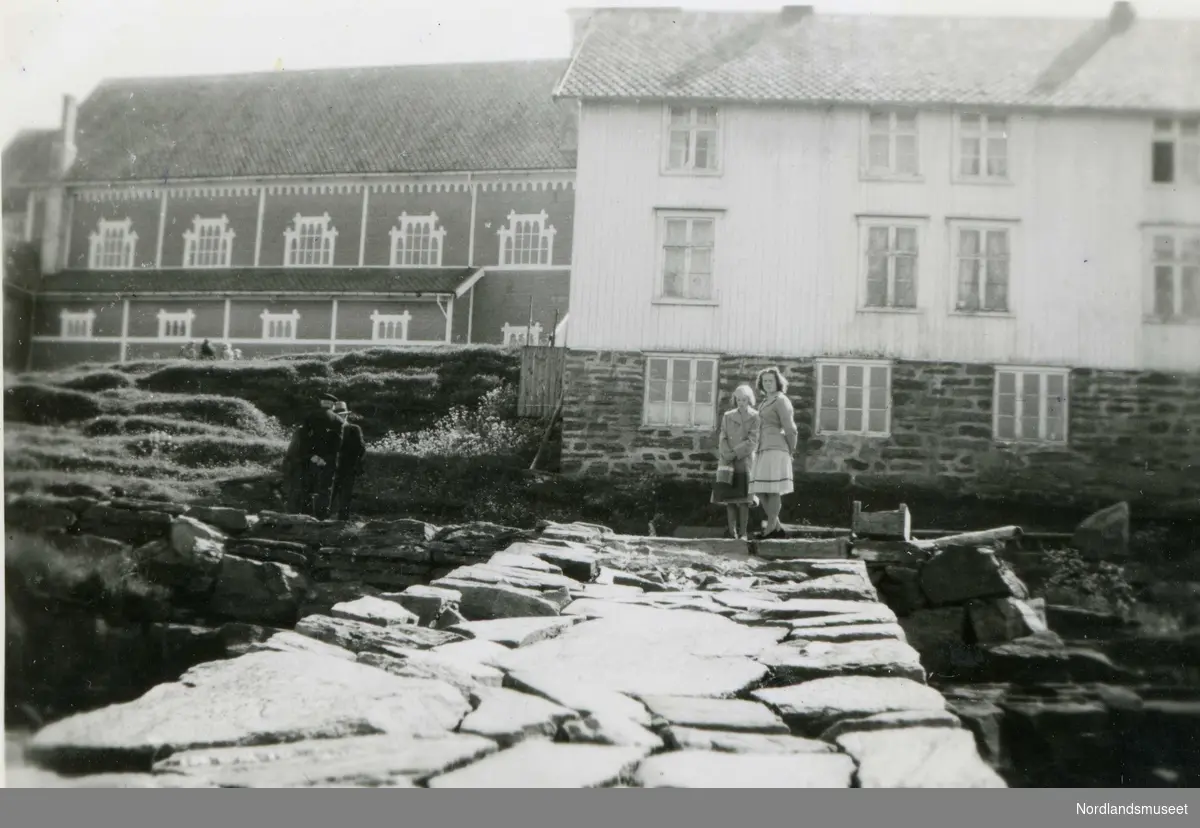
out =
{"type": "Polygon", "coordinates": [[[840,754],[726,754],[679,750],[643,761],[641,787],[850,787],[854,762],[840,754]]]}

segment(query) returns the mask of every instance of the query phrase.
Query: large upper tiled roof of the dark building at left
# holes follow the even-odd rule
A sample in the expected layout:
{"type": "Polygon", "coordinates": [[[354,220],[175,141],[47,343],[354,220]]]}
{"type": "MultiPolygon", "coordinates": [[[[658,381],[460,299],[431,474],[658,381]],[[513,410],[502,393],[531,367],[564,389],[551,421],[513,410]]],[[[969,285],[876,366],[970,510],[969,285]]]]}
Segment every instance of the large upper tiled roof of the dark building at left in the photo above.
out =
{"type": "Polygon", "coordinates": [[[108,80],[74,181],[574,168],[566,61],[108,80]]]}

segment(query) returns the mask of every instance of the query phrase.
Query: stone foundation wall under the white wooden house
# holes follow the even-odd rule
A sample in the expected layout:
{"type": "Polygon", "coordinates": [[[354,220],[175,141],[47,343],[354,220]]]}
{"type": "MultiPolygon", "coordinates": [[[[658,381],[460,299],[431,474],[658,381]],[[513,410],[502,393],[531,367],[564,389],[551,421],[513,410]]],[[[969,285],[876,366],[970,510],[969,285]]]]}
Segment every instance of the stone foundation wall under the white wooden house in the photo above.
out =
{"type": "MultiPolygon", "coordinates": [[[[1200,374],[1075,370],[1068,442],[1046,445],[992,438],[990,365],[894,362],[887,437],[816,433],[811,359],[721,356],[719,409],[770,365],[784,371],[796,407],[798,486],[902,485],[1079,505],[1128,499],[1154,514],[1200,512],[1200,374]]],[[[709,479],[715,432],[643,427],[644,376],[640,353],[569,352],[564,472],[709,479]]]]}

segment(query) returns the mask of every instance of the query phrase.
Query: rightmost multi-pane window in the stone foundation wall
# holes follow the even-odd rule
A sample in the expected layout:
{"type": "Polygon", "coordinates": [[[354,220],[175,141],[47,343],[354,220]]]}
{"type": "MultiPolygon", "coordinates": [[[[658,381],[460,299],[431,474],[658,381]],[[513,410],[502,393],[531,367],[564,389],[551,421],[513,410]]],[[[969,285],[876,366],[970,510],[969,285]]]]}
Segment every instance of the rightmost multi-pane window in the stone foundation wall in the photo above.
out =
{"type": "Polygon", "coordinates": [[[992,402],[997,440],[1067,442],[1069,372],[997,368],[992,402]]]}

